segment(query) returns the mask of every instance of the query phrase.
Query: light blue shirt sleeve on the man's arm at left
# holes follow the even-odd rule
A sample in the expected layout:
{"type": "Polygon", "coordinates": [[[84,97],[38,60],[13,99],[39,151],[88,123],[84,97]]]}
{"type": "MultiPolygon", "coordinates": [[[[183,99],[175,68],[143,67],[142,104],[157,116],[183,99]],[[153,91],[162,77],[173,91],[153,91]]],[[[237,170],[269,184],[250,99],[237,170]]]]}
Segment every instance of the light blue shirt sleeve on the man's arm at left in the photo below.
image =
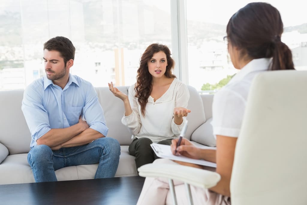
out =
{"type": "Polygon", "coordinates": [[[40,92],[43,92],[43,88],[28,86],[24,91],[21,105],[31,136],[35,141],[51,130],[48,112],[43,106],[43,94],[40,92]]]}

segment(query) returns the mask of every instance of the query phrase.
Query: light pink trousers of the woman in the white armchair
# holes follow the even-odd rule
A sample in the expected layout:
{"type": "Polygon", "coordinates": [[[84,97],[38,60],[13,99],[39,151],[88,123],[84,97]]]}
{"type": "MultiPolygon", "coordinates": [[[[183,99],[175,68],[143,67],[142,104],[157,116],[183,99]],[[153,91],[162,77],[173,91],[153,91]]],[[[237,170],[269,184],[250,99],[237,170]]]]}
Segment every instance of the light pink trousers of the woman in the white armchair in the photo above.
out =
{"type": "MultiPolygon", "coordinates": [[[[168,159],[158,159],[153,163],[175,163],[168,159]]],[[[175,163],[176,164],[176,163],[175,163]]],[[[175,193],[178,205],[188,204],[188,196],[183,182],[174,181],[175,193]]],[[[208,189],[191,186],[193,203],[205,205],[230,205],[230,197],[217,194],[208,189]]],[[[146,177],[145,183],[138,199],[137,205],[164,205],[173,204],[169,191],[168,179],[146,177]]]]}

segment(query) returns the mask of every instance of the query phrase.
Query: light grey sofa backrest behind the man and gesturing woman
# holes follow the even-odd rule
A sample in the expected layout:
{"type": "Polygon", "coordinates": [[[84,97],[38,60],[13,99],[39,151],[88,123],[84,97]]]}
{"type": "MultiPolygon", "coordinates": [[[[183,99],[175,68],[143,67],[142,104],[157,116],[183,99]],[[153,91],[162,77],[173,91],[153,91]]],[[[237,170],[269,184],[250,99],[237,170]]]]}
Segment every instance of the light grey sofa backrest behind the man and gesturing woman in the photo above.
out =
{"type": "MultiPolygon", "coordinates": [[[[128,94],[129,86],[117,87],[123,93],[128,94]]],[[[203,101],[195,88],[188,86],[190,100],[188,108],[188,130],[185,137],[190,139],[196,128],[206,121],[203,101]]],[[[103,108],[106,124],[109,128],[109,137],[115,138],[121,145],[129,145],[131,135],[128,129],[121,123],[124,114],[122,100],[115,97],[108,87],[95,88],[99,102],[103,108]]],[[[23,90],[0,91],[0,143],[4,144],[11,154],[27,153],[30,150],[31,134],[21,111],[23,90]]]]}

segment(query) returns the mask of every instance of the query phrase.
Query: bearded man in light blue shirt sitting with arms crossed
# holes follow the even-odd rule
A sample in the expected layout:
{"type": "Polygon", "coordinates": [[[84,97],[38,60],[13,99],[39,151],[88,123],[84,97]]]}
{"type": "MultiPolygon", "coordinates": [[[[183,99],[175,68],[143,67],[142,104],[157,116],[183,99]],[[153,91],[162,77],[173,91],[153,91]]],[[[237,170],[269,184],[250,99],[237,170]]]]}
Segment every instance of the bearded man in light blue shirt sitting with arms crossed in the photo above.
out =
{"type": "Polygon", "coordinates": [[[106,137],[105,124],[94,87],[71,75],[75,47],[65,37],[44,44],[47,77],[24,92],[22,112],[31,132],[28,162],[36,182],[57,181],[55,170],[99,163],[96,178],[115,176],[120,146],[106,137]],[[86,121],[84,121],[85,119],[86,121]]]}

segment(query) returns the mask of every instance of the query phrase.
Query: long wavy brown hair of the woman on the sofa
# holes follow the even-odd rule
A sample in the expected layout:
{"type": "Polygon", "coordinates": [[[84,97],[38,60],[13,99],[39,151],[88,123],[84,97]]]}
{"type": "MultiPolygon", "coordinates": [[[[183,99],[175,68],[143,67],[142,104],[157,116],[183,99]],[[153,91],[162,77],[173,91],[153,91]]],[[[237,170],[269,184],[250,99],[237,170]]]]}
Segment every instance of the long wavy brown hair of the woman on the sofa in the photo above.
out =
{"type": "Polygon", "coordinates": [[[145,52],[142,54],[140,59],[140,67],[137,72],[137,81],[134,87],[135,97],[138,98],[138,102],[141,105],[142,115],[145,116],[145,107],[148,102],[148,98],[153,89],[152,87],[152,75],[148,71],[147,62],[153,57],[154,53],[162,51],[166,55],[167,66],[164,75],[168,78],[175,78],[176,76],[172,74],[175,66],[175,61],[171,57],[171,52],[166,45],[159,43],[153,43],[149,45],[145,52]]]}

